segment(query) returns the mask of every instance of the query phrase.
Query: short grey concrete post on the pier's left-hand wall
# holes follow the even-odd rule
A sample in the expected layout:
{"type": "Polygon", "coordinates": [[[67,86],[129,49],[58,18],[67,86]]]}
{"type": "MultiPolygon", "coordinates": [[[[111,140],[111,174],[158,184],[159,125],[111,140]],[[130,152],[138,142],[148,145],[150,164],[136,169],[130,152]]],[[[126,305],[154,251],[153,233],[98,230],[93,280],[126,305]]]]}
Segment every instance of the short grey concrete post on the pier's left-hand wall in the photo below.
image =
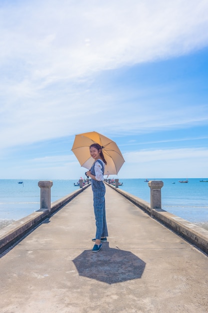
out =
{"type": "Polygon", "coordinates": [[[40,209],[51,209],[51,187],[53,182],[51,180],[40,180],[38,186],[40,187],[40,209]]]}

